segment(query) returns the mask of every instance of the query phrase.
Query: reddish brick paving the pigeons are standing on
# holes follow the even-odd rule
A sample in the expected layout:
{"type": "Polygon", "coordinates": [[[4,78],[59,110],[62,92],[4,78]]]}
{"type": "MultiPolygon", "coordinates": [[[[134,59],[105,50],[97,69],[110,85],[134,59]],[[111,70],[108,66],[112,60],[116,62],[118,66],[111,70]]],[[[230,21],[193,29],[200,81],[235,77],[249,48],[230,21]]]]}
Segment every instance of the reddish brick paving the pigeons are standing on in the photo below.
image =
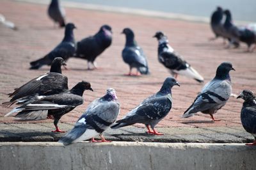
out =
{"type": "MultiPolygon", "coordinates": [[[[29,70],[29,61],[38,59],[63,38],[63,29],[56,29],[46,15],[47,6],[42,4],[1,1],[0,12],[19,27],[13,31],[0,25],[0,102],[9,100],[7,93],[49,71],[49,66],[40,70],[29,70]]],[[[68,77],[69,87],[79,81],[90,81],[95,90],[84,93],[85,102],[60,120],[60,128],[69,130],[81,116],[86,106],[97,97],[102,97],[106,88],[115,88],[121,104],[120,116],[136,107],[144,98],[156,93],[168,71],[157,61],[157,41],[152,38],[156,31],[168,35],[170,44],[188,61],[208,82],[214,77],[216,67],[223,61],[231,61],[236,72],[231,72],[233,93],[242,89],[255,88],[256,53],[239,49],[224,49],[222,40],[209,42],[212,37],[209,24],[168,20],[138,15],[99,12],[65,8],[67,21],[74,22],[76,40],[93,35],[102,24],[113,28],[113,43],[99,58],[99,70],[88,71],[87,63],[81,59],[69,59],[70,70],[63,70],[68,77]],[[138,44],[148,57],[151,75],[141,77],[124,76],[129,67],[122,61],[121,52],[125,37],[120,35],[124,27],[131,27],[138,44]]],[[[186,77],[178,77],[181,86],[173,88],[173,107],[168,116],[157,125],[164,136],[145,134],[143,125],[137,124],[120,130],[108,130],[106,137],[116,141],[159,141],[159,142],[247,142],[252,136],[241,126],[240,110],[242,101],[230,98],[227,105],[215,116],[221,121],[212,122],[209,115],[199,113],[188,119],[181,119],[204,84],[186,77]]],[[[0,105],[0,141],[56,141],[63,134],[54,134],[52,120],[15,121],[3,118],[14,106],[0,105]]]]}

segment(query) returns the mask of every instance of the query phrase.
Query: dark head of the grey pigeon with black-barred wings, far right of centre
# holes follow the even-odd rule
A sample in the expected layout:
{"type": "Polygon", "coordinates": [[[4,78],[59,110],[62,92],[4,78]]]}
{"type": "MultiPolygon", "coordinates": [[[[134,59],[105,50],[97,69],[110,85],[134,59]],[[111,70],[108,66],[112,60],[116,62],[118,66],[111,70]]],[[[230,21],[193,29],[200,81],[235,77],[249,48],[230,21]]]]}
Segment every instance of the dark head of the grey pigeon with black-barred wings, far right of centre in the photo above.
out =
{"type": "Polygon", "coordinates": [[[216,70],[216,78],[217,79],[229,79],[230,80],[230,76],[229,76],[229,72],[230,70],[234,70],[236,71],[232,64],[230,62],[224,62],[221,63],[220,66],[218,66],[217,70],[216,70]]]}

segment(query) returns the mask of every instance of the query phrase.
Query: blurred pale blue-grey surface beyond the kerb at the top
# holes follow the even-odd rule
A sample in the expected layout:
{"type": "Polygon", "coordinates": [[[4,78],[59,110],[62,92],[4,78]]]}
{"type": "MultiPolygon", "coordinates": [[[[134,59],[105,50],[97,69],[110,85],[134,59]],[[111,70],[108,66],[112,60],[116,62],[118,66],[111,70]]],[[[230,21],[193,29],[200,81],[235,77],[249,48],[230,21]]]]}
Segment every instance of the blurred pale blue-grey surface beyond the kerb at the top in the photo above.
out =
{"type": "Polygon", "coordinates": [[[209,17],[216,6],[228,8],[234,20],[256,22],[255,0],[63,0],[122,8],[136,8],[158,12],[180,13],[209,17]]]}

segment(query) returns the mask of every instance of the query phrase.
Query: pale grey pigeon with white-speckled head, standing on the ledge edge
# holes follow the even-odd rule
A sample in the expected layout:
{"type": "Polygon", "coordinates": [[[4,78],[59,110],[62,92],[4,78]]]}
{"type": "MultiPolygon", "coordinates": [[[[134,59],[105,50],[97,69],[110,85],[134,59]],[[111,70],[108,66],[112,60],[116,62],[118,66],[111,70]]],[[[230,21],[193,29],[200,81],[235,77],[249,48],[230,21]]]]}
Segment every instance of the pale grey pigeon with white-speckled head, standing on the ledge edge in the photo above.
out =
{"type": "Polygon", "coordinates": [[[74,128],[60,139],[60,143],[65,145],[78,143],[87,139],[92,142],[110,142],[107,141],[102,133],[115,122],[120,112],[115,89],[107,89],[104,97],[94,100],[77,120],[74,128]],[[94,137],[100,135],[101,141],[95,141],[94,137]]]}

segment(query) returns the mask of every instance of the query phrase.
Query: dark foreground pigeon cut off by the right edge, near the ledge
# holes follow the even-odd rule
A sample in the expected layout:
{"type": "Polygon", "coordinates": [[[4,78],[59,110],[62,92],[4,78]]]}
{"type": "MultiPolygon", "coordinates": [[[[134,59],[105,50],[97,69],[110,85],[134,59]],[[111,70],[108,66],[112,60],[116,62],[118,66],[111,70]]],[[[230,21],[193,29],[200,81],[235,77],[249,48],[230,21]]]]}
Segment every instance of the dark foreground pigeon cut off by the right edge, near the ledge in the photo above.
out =
{"type": "Polygon", "coordinates": [[[237,98],[243,98],[244,103],[241,110],[241,122],[246,130],[254,137],[253,143],[246,145],[256,145],[256,97],[253,91],[243,90],[237,98]]]}

